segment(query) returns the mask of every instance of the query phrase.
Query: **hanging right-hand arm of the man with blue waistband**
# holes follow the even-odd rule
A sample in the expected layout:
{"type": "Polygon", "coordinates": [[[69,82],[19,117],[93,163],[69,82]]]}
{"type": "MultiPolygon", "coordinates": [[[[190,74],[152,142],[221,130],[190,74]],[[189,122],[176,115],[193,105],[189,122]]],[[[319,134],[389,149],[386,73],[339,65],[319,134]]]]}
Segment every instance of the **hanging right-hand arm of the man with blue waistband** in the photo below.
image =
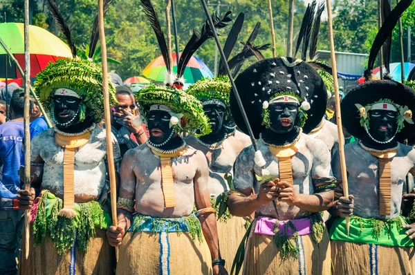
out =
{"type": "MultiPolygon", "coordinates": [[[[196,152],[195,158],[195,161],[198,164],[198,169],[194,176],[194,198],[196,200],[196,209],[208,209],[212,207],[210,204],[210,193],[208,188],[208,162],[205,155],[200,151],[196,152]]],[[[208,243],[212,260],[220,259],[221,252],[219,251],[219,240],[214,211],[207,214],[201,214],[198,218],[201,222],[203,236],[205,236],[206,243],[208,243]]],[[[215,274],[226,274],[223,266],[215,265],[213,268],[215,274]]]]}

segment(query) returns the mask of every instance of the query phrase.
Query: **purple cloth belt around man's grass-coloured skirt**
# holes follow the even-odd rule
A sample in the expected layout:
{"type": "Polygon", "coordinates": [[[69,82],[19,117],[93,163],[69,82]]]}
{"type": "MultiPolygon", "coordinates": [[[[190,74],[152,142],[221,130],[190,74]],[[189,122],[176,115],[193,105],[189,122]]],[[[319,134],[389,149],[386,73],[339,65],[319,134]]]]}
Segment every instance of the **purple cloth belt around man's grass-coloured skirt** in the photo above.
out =
{"type": "MultiPolygon", "coordinates": [[[[288,227],[286,231],[284,230],[284,225],[286,222],[293,222],[295,229],[297,229],[297,233],[299,236],[308,235],[311,233],[311,219],[310,218],[300,218],[298,220],[279,220],[279,232],[278,234],[286,235],[286,236],[293,236],[293,230],[291,227],[288,227]]],[[[266,236],[274,236],[274,225],[277,222],[277,219],[265,217],[265,216],[258,216],[257,217],[257,224],[255,225],[255,234],[261,234],[266,236]]],[[[324,224],[325,225],[325,224],[324,224]]]]}

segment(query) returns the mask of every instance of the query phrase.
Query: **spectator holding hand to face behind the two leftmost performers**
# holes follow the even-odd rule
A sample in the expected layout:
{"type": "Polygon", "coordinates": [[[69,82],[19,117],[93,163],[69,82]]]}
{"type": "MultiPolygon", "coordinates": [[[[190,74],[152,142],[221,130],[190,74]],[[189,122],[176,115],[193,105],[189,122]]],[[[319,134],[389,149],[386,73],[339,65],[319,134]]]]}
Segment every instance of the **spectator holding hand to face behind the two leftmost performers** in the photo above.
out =
{"type": "Polygon", "coordinates": [[[124,155],[127,150],[147,142],[147,133],[131,90],[126,86],[116,89],[118,104],[112,108],[111,131],[120,144],[121,155],[124,155]]]}

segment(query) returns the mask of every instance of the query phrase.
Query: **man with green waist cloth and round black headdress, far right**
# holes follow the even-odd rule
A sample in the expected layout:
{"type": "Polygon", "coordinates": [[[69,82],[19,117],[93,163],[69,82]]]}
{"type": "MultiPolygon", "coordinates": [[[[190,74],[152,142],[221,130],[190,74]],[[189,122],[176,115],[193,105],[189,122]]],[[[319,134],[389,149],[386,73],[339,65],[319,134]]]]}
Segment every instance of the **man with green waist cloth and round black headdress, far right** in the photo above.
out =
{"type": "MultiPolygon", "coordinates": [[[[359,142],[344,146],[351,195],[342,196],[340,183],[332,209],[338,217],[330,231],[334,274],[413,274],[414,192],[406,176],[415,174],[415,151],[401,142],[415,131],[415,93],[397,82],[368,81],[341,108],[344,128],[359,142]]],[[[332,167],[341,182],[338,154],[332,167]]]]}

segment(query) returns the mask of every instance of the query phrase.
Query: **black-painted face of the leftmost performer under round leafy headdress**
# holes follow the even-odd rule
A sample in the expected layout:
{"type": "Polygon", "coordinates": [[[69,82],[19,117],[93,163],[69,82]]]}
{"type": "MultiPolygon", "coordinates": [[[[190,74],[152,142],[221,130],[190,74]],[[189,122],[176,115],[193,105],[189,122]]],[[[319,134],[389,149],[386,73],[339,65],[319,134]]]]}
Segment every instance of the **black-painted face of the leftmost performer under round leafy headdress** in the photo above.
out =
{"type": "Polygon", "coordinates": [[[55,103],[53,112],[57,123],[64,124],[71,122],[66,125],[67,127],[76,124],[79,121],[80,116],[78,110],[81,104],[80,98],[66,95],[55,95],[53,102],[55,103]]]}

